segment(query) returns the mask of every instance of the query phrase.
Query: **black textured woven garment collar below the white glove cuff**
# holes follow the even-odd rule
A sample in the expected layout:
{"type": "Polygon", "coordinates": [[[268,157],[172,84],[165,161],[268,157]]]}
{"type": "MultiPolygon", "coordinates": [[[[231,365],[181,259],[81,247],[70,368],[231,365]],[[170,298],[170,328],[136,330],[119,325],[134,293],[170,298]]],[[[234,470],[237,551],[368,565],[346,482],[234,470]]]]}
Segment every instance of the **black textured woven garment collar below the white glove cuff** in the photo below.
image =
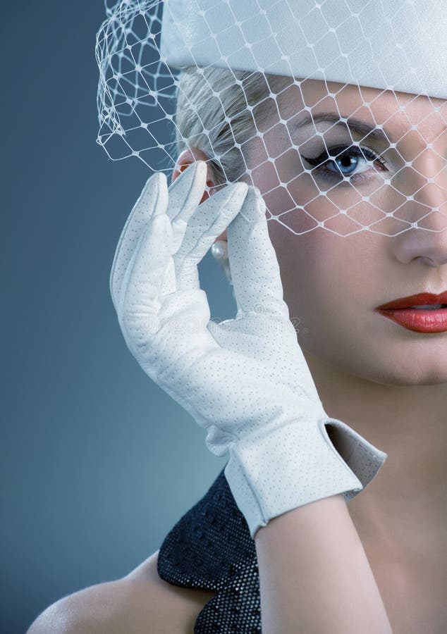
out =
{"type": "Polygon", "coordinates": [[[194,634],[261,631],[255,540],[224,470],[166,535],[158,573],[171,585],[217,591],[197,616],[194,634]]]}

